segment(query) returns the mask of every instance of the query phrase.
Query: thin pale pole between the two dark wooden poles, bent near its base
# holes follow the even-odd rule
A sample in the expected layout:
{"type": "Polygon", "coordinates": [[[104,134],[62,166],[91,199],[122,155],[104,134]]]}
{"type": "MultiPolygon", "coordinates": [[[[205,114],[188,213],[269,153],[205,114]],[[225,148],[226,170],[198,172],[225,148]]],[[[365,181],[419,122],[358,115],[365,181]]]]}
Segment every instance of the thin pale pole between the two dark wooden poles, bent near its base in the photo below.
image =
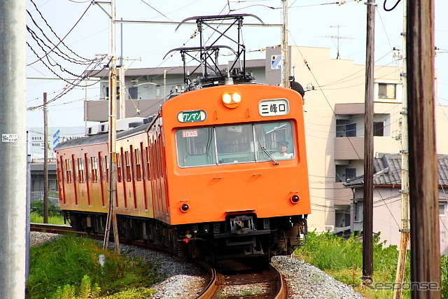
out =
{"type": "Polygon", "coordinates": [[[401,228],[400,251],[398,251],[397,272],[395,285],[399,286],[393,291],[393,298],[399,299],[402,295],[402,283],[405,277],[406,251],[409,244],[409,141],[407,132],[407,74],[406,74],[406,2],[403,1],[403,32],[402,35],[402,111],[401,111],[401,228]]]}

